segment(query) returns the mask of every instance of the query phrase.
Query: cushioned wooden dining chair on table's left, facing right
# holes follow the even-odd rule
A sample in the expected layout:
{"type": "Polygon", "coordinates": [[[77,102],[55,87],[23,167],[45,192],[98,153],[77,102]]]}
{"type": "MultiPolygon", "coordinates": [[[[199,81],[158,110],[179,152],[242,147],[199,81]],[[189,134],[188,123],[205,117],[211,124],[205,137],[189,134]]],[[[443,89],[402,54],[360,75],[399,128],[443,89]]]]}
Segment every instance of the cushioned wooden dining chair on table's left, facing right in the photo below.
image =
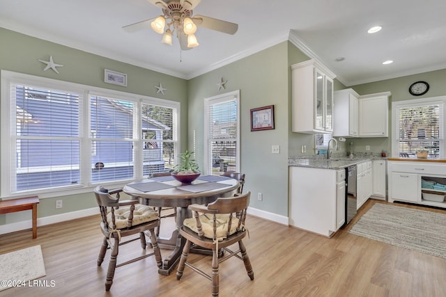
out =
{"type": "Polygon", "coordinates": [[[110,255],[109,268],[107,270],[107,278],[105,280],[105,291],[109,291],[113,284],[114,272],[117,267],[136,262],[155,255],[155,261],[158,267],[162,264],[160,248],[157,244],[157,237],[155,236],[155,227],[160,225],[158,214],[151,207],[139,204],[138,200],[119,200],[119,193],[121,188],[114,190],[107,190],[102,186],[97,186],[94,189],[96,202],[98,202],[101,223],[100,230],[104,234],[102,246],[100,248],[98,257],[98,266],[104,261],[107,249],[112,250],[110,255]],[[132,241],[140,240],[141,248],[146,250],[146,236],[148,232],[153,252],[144,252],[137,258],[130,259],[127,262],[116,264],[119,252],[119,246],[132,241]],[[121,241],[123,237],[139,234],[138,237],[121,241]]]}

